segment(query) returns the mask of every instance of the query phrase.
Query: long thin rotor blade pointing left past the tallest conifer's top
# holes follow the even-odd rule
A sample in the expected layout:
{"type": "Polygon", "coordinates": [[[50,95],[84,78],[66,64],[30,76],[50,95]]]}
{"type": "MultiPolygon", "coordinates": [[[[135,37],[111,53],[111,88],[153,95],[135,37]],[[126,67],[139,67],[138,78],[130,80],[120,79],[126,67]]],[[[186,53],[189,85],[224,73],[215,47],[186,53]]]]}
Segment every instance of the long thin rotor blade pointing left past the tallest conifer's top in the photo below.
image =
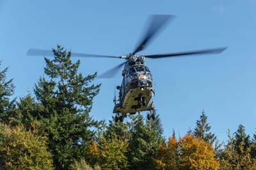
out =
{"type": "MultiPolygon", "coordinates": [[[[52,50],[40,50],[40,49],[29,49],[27,56],[54,56],[52,50]]],[[[71,52],[72,57],[84,57],[84,58],[120,58],[118,56],[104,56],[97,54],[84,54],[71,52]]]]}

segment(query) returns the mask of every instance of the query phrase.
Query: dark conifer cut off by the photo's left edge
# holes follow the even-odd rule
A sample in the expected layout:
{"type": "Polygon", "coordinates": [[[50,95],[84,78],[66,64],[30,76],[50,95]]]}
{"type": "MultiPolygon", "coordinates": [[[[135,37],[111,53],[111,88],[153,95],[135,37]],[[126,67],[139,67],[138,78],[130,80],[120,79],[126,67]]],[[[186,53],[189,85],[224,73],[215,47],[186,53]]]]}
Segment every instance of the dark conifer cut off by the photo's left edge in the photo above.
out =
{"type": "MultiPolygon", "coordinates": [[[[1,66],[1,61],[0,61],[1,66]]],[[[15,99],[10,97],[14,93],[13,79],[7,80],[8,68],[0,70],[0,121],[3,123],[15,123],[15,99]]]]}

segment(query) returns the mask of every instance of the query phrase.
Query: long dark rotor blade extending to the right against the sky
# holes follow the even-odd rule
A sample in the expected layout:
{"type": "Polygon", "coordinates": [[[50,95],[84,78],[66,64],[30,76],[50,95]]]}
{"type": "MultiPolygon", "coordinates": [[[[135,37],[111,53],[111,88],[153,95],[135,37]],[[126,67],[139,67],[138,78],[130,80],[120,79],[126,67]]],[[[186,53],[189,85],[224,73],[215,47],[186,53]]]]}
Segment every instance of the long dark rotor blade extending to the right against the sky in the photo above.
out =
{"type": "Polygon", "coordinates": [[[200,54],[220,54],[227,47],[221,47],[216,49],[204,49],[204,50],[191,50],[185,52],[175,52],[175,53],[167,53],[167,54],[154,54],[154,55],[146,55],[146,58],[169,58],[169,57],[177,57],[177,56],[188,56],[188,55],[200,55],[200,54]]]}

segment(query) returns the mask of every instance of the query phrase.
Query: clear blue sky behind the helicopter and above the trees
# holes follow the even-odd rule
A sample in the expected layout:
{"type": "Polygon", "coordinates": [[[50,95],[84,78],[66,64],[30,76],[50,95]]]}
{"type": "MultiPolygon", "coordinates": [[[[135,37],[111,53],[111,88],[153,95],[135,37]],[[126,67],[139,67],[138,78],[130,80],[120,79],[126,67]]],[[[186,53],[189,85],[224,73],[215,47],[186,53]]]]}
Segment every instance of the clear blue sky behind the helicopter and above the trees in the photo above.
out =
{"type": "MultiPolygon", "coordinates": [[[[256,128],[255,0],[0,0],[1,67],[10,67],[15,96],[23,97],[44,75],[44,58],[26,56],[29,48],[51,49],[60,43],[74,52],[127,54],[137,45],[150,14],[177,18],[140,54],[228,46],[217,56],[147,59],[164,134],[170,135],[172,129],[186,134],[204,109],[221,141],[227,139],[228,128],[234,132],[239,124],[252,135],[256,128]]],[[[81,58],[80,72],[102,73],[121,62],[81,58]]],[[[102,83],[93,103],[95,119],[111,118],[114,89],[121,81],[121,73],[115,79],[95,81],[102,83]]]]}

